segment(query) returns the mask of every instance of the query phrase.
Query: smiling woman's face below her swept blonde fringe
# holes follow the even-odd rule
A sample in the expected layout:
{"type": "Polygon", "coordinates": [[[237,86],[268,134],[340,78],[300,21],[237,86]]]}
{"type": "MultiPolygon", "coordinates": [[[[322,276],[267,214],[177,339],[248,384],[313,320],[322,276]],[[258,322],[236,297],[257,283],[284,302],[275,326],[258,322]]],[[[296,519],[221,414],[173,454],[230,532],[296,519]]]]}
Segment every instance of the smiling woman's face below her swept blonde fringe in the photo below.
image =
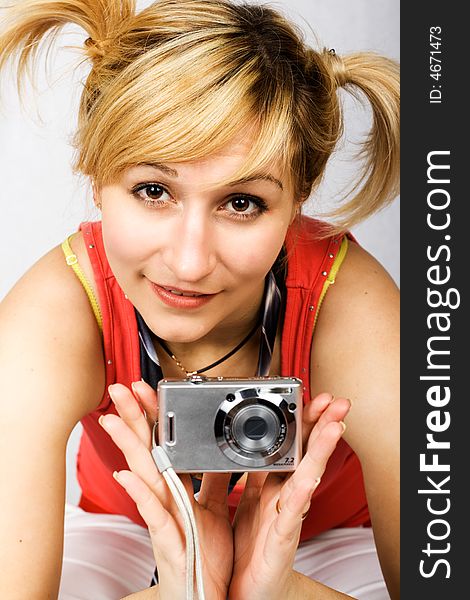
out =
{"type": "Polygon", "coordinates": [[[233,339],[256,318],[295,214],[292,192],[275,167],[205,189],[235,173],[248,149],[239,142],[204,160],[132,167],[98,192],[111,269],[169,342],[233,339]]]}

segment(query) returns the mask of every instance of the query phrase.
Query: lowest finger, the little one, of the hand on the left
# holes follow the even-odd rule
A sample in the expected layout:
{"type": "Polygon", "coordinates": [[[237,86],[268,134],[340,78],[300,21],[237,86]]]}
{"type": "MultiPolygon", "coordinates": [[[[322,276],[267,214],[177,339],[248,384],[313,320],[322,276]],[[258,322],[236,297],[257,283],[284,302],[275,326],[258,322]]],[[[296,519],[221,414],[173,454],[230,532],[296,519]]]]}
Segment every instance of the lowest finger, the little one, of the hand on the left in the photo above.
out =
{"type": "Polygon", "coordinates": [[[132,471],[114,472],[113,476],[136,503],[147,524],[156,554],[167,559],[181,555],[185,551],[184,536],[152,490],[132,471]]]}

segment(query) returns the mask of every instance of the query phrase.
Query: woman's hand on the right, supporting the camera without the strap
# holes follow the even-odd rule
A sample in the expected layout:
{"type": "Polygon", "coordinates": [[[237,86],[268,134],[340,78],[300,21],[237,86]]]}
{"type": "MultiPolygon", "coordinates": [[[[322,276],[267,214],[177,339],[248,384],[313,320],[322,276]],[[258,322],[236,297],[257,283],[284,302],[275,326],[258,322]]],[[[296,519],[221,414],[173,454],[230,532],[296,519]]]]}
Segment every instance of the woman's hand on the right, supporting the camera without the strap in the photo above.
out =
{"type": "Polygon", "coordinates": [[[308,510],[319,478],[343,435],[342,420],[350,408],[349,400],[326,402],[325,396],[317,396],[309,407],[307,421],[314,414],[319,418],[296,471],[287,478],[276,473],[248,474],[233,524],[235,556],[230,600],[285,600],[292,591],[302,514],[308,510]]]}

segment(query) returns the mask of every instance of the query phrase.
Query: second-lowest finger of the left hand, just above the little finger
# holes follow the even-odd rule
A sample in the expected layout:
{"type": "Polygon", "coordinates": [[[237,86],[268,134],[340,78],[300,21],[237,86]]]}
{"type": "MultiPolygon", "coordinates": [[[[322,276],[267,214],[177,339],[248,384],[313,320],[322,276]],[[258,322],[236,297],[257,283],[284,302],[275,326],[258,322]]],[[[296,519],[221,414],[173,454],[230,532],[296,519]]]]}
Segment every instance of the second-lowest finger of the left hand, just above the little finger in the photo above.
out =
{"type": "Polygon", "coordinates": [[[99,422],[124,454],[131,471],[158,496],[167,510],[174,513],[175,504],[171,492],[139,436],[117,415],[104,415],[99,422]]]}

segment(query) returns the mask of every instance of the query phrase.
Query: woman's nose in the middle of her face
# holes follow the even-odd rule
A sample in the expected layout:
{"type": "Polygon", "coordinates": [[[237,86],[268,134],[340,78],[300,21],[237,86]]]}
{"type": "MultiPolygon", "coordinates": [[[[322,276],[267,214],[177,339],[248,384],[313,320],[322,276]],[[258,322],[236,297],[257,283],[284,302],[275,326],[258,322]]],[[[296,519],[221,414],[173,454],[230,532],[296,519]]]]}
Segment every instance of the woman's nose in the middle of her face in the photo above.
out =
{"type": "Polygon", "coordinates": [[[165,262],[175,285],[196,283],[210,275],[217,264],[215,232],[202,207],[182,212],[172,228],[165,262]]]}

